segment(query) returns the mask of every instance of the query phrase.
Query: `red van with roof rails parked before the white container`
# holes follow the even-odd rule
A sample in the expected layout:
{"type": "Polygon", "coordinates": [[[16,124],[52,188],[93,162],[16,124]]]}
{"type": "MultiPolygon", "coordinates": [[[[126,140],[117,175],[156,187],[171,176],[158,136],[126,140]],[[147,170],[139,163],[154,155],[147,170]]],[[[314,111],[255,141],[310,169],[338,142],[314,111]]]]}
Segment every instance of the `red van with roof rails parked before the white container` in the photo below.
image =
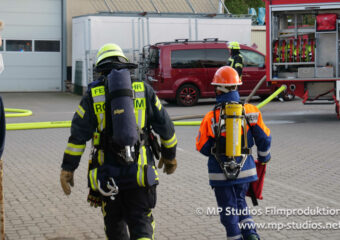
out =
{"type": "MultiPolygon", "coordinates": [[[[248,96],[266,74],[265,56],[251,47],[240,46],[244,67],[239,92],[241,96],[248,96]]],[[[210,83],[216,70],[226,65],[229,54],[227,42],[218,39],[157,43],[144,54],[146,77],[160,99],[192,106],[199,98],[215,97],[210,83]]],[[[273,86],[264,83],[257,95],[266,97],[273,90],[273,86]]]]}

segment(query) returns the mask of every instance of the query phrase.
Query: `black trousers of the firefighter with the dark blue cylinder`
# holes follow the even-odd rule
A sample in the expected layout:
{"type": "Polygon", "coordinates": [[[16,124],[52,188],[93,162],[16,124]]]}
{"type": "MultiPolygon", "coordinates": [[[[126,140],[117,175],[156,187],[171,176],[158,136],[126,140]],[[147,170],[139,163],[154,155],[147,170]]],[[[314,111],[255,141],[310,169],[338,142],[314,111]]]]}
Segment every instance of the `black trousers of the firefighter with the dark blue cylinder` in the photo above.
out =
{"type": "Polygon", "coordinates": [[[114,200],[104,198],[102,212],[108,240],[153,240],[151,209],[155,205],[156,186],[122,190],[114,200]]]}

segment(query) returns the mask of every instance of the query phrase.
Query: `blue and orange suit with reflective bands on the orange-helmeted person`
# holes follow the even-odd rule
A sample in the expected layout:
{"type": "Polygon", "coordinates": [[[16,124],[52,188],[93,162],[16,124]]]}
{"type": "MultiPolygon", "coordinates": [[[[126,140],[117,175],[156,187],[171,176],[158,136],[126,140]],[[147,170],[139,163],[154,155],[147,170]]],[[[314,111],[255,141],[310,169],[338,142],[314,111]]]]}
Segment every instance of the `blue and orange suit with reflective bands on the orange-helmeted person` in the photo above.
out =
{"type": "MultiPolygon", "coordinates": [[[[237,91],[231,91],[217,96],[217,102],[240,102],[237,91]]],[[[245,116],[250,125],[247,126],[248,146],[257,146],[257,155],[260,162],[266,163],[270,160],[271,135],[269,128],[263,122],[262,114],[258,108],[252,104],[245,104],[245,116]]],[[[219,111],[216,110],[216,122],[219,119],[219,111]]],[[[256,234],[254,222],[249,214],[244,214],[247,209],[245,195],[248,191],[249,183],[257,180],[257,173],[254,158],[248,155],[240,174],[235,180],[227,180],[215,157],[211,154],[211,149],[215,144],[214,133],[214,113],[208,112],[202,120],[198,136],[196,138],[196,149],[203,155],[208,156],[209,182],[215,191],[217,204],[223,210],[220,213],[221,223],[227,231],[227,239],[240,240],[247,239],[251,234],[256,234]],[[235,209],[236,214],[232,214],[235,209]],[[239,223],[246,224],[240,229],[239,223]]],[[[225,151],[225,133],[222,133],[221,148],[225,151]]],[[[221,159],[226,161],[226,157],[221,159]]],[[[238,163],[241,157],[236,159],[238,163]]]]}

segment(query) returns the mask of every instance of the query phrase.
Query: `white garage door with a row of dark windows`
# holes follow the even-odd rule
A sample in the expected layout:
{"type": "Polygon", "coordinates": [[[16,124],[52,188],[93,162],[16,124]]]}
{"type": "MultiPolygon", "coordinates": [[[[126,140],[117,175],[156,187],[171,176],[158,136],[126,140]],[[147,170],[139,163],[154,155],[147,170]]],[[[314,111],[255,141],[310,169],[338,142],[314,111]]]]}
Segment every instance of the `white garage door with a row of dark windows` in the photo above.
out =
{"type": "Polygon", "coordinates": [[[62,0],[1,0],[0,92],[61,91],[62,0]]]}

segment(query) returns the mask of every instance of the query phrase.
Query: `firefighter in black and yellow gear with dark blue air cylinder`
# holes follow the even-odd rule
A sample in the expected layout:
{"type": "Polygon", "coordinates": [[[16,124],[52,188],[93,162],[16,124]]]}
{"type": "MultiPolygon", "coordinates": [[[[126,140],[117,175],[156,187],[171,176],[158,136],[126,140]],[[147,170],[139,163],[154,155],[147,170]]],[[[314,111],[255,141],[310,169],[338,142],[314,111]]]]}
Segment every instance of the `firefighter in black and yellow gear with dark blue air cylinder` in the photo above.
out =
{"type": "Polygon", "coordinates": [[[61,186],[69,195],[73,173],[92,139],[88,201],[102,206],[109,240],[154,239],[151,209],[158,184],[154,156],[160,153],[158,167],[164,166],[167,174],[177,167],[173,123],[152,88],[131,81],[129,69],[135,67],[118,45],[99,49],[96,71],[101,77],[89,84],[74,114],[61,166],[61,186]],[[153,132],[160,136],[161,146],[153,132]]]}

